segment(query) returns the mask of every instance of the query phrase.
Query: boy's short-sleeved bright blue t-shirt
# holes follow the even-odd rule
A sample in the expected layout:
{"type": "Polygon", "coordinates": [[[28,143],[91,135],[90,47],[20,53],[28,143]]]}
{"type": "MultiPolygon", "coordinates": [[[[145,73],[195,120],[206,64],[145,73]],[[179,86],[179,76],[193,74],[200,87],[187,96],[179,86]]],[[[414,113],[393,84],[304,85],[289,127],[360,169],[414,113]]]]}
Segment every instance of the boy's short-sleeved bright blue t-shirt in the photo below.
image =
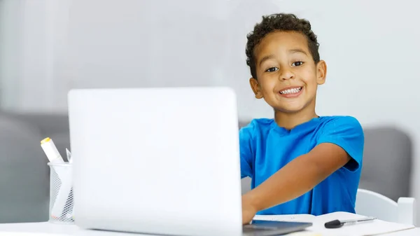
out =
{"type": "MultiPolygon", "coordinates": [[[[239,131],[241,178],[251,177],[251,188],[276,173],[300,155],[321,143],[337,144],[351,160],[304,195],[265,209],[258,214],[313,214],[334,211],[354,213],[362,168],[363,129],[351,116],[321,116],[292,130],[273,119],[255,119],[239,131]]],[[[298,170],[297,172],[304,169],[298,170]]]]}

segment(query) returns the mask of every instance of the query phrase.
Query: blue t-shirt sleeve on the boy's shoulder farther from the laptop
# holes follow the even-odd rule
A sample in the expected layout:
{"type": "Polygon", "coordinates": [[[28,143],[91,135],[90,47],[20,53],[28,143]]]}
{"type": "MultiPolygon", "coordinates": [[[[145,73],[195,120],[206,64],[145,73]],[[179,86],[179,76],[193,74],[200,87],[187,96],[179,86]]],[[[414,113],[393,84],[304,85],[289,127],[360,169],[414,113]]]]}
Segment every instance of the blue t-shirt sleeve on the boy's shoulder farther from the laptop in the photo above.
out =
{"type": "Polygon", "coordinates": [[[351,160],[344,165],[344,168],[355,172],[363,160],[363,148],[365,136],[363,128],[356,118],[342,116],[330,120],[323,127],[317,144],[332,143],[340,146],[349,154],[351,160]]]}

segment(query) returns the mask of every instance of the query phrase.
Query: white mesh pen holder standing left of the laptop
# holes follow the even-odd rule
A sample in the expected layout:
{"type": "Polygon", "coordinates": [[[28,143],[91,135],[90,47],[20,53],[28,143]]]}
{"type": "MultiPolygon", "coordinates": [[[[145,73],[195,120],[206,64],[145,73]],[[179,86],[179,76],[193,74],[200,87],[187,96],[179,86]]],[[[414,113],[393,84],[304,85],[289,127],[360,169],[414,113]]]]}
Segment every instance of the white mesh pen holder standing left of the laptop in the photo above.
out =
{"type": "Polygon", "coordinates": [[[50,218],[51,223],[73,224],[73,183],[71,164],[51,163],[50,218]]]}

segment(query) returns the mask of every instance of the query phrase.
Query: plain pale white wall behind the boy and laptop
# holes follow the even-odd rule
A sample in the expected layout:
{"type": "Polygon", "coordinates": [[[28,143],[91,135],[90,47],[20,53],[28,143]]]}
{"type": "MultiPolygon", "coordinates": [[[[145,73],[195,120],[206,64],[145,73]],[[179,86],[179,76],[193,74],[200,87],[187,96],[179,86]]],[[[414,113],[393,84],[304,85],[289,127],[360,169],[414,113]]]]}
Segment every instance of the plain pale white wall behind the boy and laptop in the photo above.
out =
{"type": "Polygon", "coordinates": [[[238,93],[241,118],[272,117],[248,86],[246,34],[262,14],[308,18],[328,64],[318,114],[349,114],[365,126],[391,124],[408,132],[415,148],[412,195],[420,200],[416,1],[22,2],[25,83],[6,84],[15,92],[3,101],[27,110],[65,111],[69,88],[228,85],[238,93]]]}

